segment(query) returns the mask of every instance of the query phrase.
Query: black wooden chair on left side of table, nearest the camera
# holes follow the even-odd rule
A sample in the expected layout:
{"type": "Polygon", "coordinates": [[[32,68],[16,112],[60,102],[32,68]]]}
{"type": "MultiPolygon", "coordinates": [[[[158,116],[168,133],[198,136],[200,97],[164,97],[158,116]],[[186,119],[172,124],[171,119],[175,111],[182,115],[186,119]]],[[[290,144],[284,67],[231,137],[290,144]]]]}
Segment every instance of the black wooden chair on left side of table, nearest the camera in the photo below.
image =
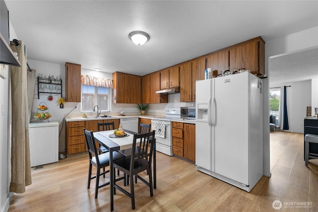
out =
{"type": "MultiPolygon", "coordinates": [[[[105,175],[105,173],[108,173],[109,170],[105,171],[105,167],[109,166],[109,151],[106,153],[98,154],[93,132],[87,131],[85,128],[83,129],[85,141],[87,145],[87,151],[89,155],[89,170],[88,170],[88,183],[87,183],[87,189],[90,187],[90,181],[94,178],[96,178],[96,186],[95,186],[95,199],[98,195],[98,189],[109,185],[110,182],[106,182],[102,185],[99,185],[99,177],[101,175],[105,175]],[[96,167],[96,175],[91,176],[91,170],[92,165],[96,167]],[[103,168],[103,172],[100,173],[100,169],[103,168]]],[[[125,155],[118,151],[113,152],[113,161],[116,161],[118,159],[125,158],[125,155]]],[[[126,182],[124,181],[124,184],[126,182]]]]}

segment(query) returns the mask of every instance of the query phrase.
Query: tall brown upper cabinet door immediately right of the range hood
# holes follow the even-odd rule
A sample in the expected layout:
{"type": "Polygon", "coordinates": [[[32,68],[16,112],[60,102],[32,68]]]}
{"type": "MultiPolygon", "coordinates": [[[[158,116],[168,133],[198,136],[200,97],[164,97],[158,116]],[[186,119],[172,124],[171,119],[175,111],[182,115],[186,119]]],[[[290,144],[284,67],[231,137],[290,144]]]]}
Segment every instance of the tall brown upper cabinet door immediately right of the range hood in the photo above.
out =
{"type": "Polygon", "coordinates": [[[180,102],[192,102],[191,63],[180,65],[180,102]]]}

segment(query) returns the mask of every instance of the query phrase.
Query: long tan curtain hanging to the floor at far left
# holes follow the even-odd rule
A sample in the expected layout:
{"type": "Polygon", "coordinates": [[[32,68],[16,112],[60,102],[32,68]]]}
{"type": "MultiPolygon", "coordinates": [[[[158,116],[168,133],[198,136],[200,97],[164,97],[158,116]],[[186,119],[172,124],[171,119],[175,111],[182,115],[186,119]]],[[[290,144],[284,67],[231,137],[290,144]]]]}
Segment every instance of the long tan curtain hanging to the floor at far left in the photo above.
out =
{"type": "MultiPolygon", "coordinates": [[[[23,193],[31,182],[29,119],[27,102],[27,66],[23,42],[10,45],[18,53],[21,67],[10,67],[11,78],[11,182],[10,192],[23,193]]],[[[32,93],[33,96],[33,93],[32,93]]]]}

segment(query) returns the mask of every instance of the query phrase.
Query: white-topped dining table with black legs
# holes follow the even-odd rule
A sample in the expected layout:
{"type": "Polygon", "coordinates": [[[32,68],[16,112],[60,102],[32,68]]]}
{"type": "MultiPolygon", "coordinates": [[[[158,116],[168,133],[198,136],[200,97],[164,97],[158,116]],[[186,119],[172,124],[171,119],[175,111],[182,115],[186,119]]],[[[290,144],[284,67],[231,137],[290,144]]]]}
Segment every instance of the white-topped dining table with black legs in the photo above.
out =
{"type": "MultiPolygon", "coordinates": [[[[137,134],[132,131],[125,130],[127,136],[125,137],[116,137],[111,138],[109,135],[113,134],[113,130],[109,131],[100,131],[94,132],[94,139],[102,146],[109,150],[109,174],[110,174],[110,211],[114,210],[114,173],[113,173],[113,151],[124,150],[131,148],[133,145],[134,134],[137,134]]],[[[156,139],[154,139],[156,142],[156,139]]],[[[154,189],[157,187],[157,176],[156,176],[156,144],[153,145],[153,153],[154,153],[154,189]]]]}

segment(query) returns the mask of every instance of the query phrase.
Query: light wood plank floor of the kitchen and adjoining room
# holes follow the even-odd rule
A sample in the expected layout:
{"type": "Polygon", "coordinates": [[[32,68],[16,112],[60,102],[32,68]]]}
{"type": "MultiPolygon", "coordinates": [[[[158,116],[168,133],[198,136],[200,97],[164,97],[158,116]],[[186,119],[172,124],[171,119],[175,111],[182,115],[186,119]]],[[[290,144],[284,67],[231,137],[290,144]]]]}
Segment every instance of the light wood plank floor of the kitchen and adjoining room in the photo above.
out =
{"type": "MultiPolygon", "coordinates": [[[[318,159],[309,166],[303,161],[304,135],[270,133],[271,177],[262,177],[250,193],[196,171],[195,165],[158,152],[158,181],[154,196],[139,181],[135,184],[135,211],[150,212],[230,212],[318,211],[318,159]],[[311,208],[285,208],[284,203],[312,202],[311,208]]],[[[32,169],[32,185],[15,194],[9,212],[107,212],[109,186],[94,199],[94,183],[87,189],[88,155],[66,158],[32,169]]],[[[122,184],[121,184],[122,185],[122,184]]],[[[128,189],[129,187],[127,187],[128,189]]],[[[114,211],[131,211],[130,199],[117,190],[114,211]]]]}

